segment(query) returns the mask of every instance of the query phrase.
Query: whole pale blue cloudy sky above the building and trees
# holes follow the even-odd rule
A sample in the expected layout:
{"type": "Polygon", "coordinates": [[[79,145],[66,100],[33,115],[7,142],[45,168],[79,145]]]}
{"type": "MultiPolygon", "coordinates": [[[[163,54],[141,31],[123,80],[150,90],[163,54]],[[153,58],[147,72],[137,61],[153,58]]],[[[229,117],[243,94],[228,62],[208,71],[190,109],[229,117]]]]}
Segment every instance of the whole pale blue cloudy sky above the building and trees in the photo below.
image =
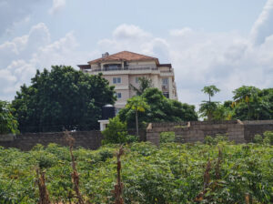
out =
{"type": "Polygon", "coordinates": [[[175,68],[179,100],[197,105],[242,85],[273,87],[273,0],[0,0],[0,99],[36,69],[129,50],[175,68]]]}

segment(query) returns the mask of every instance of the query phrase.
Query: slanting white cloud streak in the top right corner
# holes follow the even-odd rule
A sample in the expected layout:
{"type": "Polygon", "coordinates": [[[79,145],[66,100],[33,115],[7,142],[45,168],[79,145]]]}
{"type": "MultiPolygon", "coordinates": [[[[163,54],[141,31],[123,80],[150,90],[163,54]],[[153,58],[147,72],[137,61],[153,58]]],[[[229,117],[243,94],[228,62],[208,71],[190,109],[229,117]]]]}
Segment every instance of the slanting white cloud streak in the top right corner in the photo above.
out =
{"type": "Polygon", "coordinates": [[[261,45],[273,34],[273,0],[268,0],[262,13],[251,29],[250,38],[254,45],[261,45]]]}

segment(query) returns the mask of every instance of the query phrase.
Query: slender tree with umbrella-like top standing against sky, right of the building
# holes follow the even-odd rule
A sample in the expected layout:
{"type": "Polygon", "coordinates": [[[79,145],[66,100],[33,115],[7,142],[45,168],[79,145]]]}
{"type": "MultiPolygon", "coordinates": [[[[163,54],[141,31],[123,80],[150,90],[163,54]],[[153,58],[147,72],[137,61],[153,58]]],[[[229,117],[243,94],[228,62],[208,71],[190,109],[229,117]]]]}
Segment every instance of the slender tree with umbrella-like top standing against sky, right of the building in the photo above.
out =
{"type": "Polygon", "coordinates": [[[211,97],[214,97],[214,95],[219,91],[220,89],[214,85],[207,86],[202,89],[202,92],[208,95],[208,101],[202,102],[199,108],[199,113],[201,117],[207,117],[208,121],[213,119],[213,113],[217,110],[218,104],[218,102],[211,101],[211,97]]]}

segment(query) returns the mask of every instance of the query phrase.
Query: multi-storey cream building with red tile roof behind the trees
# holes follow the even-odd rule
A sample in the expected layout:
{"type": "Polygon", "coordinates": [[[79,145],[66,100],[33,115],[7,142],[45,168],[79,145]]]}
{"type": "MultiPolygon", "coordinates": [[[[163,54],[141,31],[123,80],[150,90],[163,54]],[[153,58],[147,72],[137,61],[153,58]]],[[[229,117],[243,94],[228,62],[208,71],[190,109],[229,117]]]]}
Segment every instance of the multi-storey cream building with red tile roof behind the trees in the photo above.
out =
{"type": "Polygon", "coordinates": [[[113,55],[103,54],[101,58],[79,65],[80,69],[91,75],[102,73],[115,86],[116,110],[126,106],[126,100],[136,95],[130,84],[139,87],[138,78],[152,79],[153,87],[162,90],[167,98],[177,99],[174,69],[171,64],[160,64],[156,57],[144,56],[128,51],[113,55]]]}

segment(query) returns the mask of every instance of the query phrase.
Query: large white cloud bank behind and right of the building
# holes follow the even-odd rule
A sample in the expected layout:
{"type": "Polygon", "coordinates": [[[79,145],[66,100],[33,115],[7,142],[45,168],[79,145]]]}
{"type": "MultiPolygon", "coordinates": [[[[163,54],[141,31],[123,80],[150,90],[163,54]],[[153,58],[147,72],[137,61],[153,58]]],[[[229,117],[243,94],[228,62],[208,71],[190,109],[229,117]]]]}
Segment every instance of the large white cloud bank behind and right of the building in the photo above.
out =
{"type": "Polygon", "coordinates": [[[206,99],[204,86],[222,91],[216,100],[232,97],[242,85],[273,87],[273,36],[260,46],[237,32],[207,33],[185,27],[171,30],[166,38],[153,36],[138,26],[118,26],[111,38],[98,42],[101,53],[131,50],[157,56],[175,68],[178,97],[199,104],[206,99]]]}

